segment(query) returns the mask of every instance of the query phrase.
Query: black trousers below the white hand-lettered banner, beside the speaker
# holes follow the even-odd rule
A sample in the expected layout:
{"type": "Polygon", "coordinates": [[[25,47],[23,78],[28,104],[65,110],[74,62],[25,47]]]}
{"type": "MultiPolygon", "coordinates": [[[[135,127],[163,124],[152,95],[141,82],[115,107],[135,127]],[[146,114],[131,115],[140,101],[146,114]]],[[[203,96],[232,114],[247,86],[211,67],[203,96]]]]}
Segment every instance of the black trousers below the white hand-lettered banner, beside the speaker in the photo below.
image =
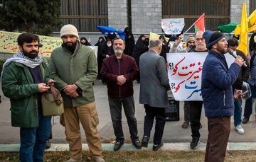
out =
{"type": "Polygon", "coordinates": [[[190,109],[190,120],[191,120],[191,136],[200,137],[199,129],[201,126],[201,112],[203,101],[191,100],[185,101],[189,105],[190,109]]]}

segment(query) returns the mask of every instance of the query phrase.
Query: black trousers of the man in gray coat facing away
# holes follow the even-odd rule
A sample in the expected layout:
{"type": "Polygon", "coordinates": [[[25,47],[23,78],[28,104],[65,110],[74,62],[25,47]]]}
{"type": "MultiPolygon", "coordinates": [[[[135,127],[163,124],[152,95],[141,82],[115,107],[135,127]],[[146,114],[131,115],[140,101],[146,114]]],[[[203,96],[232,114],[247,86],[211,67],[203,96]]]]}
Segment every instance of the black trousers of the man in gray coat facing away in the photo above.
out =
{"type": "Polygon", "coordinates": [[[166,123],[165,108],[151,107],[144,105],[146,115],[144,117],[144,136],[150,138],[150,132],[153,127],[154,117],[156,117],[156,125],[154,132],[154,144],[161,144],[161,139],[164,134],[164,126],[166,123]]]}

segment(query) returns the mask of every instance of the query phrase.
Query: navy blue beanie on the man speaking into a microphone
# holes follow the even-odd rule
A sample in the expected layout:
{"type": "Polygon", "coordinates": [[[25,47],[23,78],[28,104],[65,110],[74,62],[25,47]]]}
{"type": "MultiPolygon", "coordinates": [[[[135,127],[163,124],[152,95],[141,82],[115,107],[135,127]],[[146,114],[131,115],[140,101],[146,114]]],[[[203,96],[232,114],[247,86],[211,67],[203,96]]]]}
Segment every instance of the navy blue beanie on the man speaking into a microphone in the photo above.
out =
{"type": "Polygon", "coordinates": [[[208,50],[210,50],[210,47],[215,45],[215,43],[217,43],[223,37],[225,37],[225,35],[223,35],[223,33],[220,33],[220,32],[213,32],[210,30],[206,30],[203,33],[203,38],[206,40],[206,47],[208,50]]]}

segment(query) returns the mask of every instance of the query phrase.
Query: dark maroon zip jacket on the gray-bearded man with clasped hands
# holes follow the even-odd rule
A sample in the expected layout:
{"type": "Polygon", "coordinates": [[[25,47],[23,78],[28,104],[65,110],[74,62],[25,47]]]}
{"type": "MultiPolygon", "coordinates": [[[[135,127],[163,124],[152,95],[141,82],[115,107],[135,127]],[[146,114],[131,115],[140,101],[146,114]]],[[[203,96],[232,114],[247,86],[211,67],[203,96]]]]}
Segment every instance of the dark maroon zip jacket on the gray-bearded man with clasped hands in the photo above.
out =
{"type": "Polygon", "coordinates": [[[139,74],[139,69],[134,58],[122,54],[121,59],[113,54],[103,60],[100,72],[102,80],[107,83],[107,94],[112,98],[125,98],[132,96],[134,93],[133,83],[139,74]],[[127,81],[119,86],[117,84],[117,76],[124,75],[127,81]]]}

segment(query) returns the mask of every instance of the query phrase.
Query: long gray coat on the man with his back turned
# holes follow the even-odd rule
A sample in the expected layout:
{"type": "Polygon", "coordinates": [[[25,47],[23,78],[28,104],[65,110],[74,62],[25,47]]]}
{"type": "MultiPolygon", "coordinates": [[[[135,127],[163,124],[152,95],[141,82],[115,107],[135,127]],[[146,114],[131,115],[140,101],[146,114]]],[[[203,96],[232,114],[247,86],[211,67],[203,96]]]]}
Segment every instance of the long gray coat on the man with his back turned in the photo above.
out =
{"type": "Polygon", "coordinates": [[[149,50],[142,54],[139,62],[143,62],[139,65],[140,88],[143,89],[143,91],[140,91],[139,102],[152,106],[167,107],[166,87],[169,86],[169,79],[167,73],[159,76],[159,71],[166,71],[164,58],[149,50]],[[158,66],[159,64],[163,64],[163,66],[158,66]]]}

